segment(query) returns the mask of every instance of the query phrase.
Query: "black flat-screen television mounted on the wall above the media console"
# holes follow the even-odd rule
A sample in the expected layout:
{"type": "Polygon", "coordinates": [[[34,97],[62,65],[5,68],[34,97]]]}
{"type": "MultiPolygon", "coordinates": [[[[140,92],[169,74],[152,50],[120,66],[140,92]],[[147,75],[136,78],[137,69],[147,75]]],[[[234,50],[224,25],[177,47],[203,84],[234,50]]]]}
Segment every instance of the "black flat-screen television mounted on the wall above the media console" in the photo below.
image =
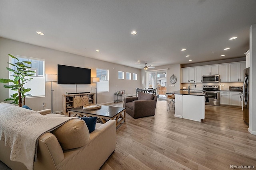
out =
{"type": "Polygon", "coordinates": [[[58,84],[91,84],[91,69],[58,64],[58,84]]]}

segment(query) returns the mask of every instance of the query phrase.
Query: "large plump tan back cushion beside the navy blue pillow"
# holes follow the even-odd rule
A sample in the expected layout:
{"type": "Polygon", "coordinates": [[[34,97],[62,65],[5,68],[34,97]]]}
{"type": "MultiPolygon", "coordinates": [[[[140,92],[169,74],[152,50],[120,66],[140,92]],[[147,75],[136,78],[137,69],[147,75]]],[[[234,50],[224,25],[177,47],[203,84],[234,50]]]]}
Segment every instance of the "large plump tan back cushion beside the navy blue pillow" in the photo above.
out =
{"type": "Polygon", "coordinates": [[[82,147],[90,139],[89,130],[81,119],[72,119],[51,133],[56,136],[63,150],[82,147]]]}

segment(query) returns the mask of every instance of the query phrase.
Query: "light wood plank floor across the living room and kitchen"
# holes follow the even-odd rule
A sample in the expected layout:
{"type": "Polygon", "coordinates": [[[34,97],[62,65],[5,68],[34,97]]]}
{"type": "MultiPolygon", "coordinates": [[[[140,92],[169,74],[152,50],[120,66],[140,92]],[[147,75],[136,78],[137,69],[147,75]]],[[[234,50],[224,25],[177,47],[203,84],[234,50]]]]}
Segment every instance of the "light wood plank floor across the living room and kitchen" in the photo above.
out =
{"type": "Polygon", "coordinates": [[[206,106],[204,121],[196,122],[174,117],[167,105],[158,101],[151,117],[126,114],[126,123],[116,129],[116,150],[101,170],[256,169],[256,136],[248,132],[241,109],[206,106]]]}

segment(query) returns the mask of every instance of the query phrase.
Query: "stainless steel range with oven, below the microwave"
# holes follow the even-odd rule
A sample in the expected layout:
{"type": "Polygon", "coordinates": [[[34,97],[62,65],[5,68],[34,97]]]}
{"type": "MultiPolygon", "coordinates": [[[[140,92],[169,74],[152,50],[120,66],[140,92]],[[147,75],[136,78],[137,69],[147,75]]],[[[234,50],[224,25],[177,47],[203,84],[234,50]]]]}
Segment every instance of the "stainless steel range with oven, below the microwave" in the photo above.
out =
{"type": "Polygon", "coordinates": [[[203,94],[206,96],[205,104],[220,106],[219,86],[203,86],[203,94]]]}

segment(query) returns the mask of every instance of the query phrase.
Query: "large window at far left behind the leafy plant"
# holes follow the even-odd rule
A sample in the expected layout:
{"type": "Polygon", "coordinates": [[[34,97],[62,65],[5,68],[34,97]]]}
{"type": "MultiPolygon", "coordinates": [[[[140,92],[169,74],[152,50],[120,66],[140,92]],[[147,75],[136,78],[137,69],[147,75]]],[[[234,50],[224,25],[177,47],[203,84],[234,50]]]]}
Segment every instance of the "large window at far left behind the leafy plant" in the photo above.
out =
{"type": "MultiPolygon", "coordinates": [[[[29,70],[33,70],[35,72],[31,73],[33,76],[31,77],[26,77],[26,78],[33,78],[30,81],[26,81],[24,84],[25,88],[31,88],[30,92],[27,92],[25,94],[31,94],[31,96],[27,96],[26,98],[30,97],[43,97],[45,96],[45,78],[44,78],[44,60],[42,59],[35,59],[35,58],[30,58],[30,57],[22,57],[22,56],[17,56],[13,55],[20,61],[30,61],[31,64],[26,64],[26,66],[30,66],[31,68],[29,70]]],[[[10,63],[14,64],[17,63],[18,61],[16,59],[13,59],[12,57],[9,56],[9,61],[10,63]]],[[[9,67],[17,70],[15,66],[12,66],[9,64],[9,67]]],[[[10,72],[9,74],[9,79],[13,79],[13,72],[10,72]]],[[[10,95],[17,93],[17,91],[9,90],[10,95]]]]}

